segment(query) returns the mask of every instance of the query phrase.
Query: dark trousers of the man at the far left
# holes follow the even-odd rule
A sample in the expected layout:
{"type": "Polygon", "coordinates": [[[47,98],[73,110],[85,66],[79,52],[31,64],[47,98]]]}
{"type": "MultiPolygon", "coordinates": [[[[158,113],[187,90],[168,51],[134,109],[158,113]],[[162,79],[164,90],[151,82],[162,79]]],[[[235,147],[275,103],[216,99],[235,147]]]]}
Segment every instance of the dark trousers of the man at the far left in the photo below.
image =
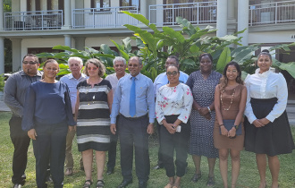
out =
{"type": "Polygon", "coordinates": [[[12,116],[9,121],[10,125],[10,138],[13,141],[13,184],[24,184],[24,175],[27,161],[28,161],[28,148],[30,146],[30,137],[28,132],[21,129],[21,117],[12,116]]]}

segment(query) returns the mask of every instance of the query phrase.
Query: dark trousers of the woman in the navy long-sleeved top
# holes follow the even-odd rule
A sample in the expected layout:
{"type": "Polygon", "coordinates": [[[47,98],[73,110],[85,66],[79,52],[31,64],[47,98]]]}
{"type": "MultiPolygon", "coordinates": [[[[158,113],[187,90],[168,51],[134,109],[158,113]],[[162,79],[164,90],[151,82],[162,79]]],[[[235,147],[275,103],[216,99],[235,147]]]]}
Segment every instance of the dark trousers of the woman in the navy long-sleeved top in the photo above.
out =
{"type": "Polygon", "coordinates": [[[68,126],[60,124],[37,124],[37,139],[33,141],[36,158],[36,182],[38,188],[47,187],[46,175],[50,161],[50,173],[55,188],[63,187],[65,142],[68,126]]]}

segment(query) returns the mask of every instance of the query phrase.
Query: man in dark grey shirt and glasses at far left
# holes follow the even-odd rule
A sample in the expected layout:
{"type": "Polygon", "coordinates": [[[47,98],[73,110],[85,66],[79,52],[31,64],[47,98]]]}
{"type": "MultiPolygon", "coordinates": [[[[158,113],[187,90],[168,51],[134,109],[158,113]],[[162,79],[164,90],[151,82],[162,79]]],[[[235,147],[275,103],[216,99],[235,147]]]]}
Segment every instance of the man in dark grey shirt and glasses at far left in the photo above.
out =
{"type": "Polygon", "coordinates": [[[21,129],[23,107],[26,90],[30,84],[41,80],[42,73],[38,71],[38,56],[28,54],[22,59],[22,71],[13,73],[4,86],[4,103],[9,107],[13,116],[9,121],[10,137],[13,141],[13,187],[21,187],[25,183],[25,170],[28,160],[30,137],[21,129]]]}

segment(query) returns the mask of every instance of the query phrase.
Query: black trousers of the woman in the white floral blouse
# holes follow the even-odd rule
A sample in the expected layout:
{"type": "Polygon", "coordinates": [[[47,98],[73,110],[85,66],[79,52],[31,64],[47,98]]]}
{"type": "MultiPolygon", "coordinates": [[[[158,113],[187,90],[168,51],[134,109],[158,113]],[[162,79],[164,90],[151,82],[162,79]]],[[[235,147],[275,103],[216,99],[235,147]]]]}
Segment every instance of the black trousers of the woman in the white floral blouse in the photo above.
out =
{"type": "MultiPolygon", "coordinates": [[[[173,124],[178,115],[165,115],[166,122],[173,124]]],[[[185,175],[188,158],[188,141],[190,137],[189,124],[180,124],[181,132],[171,134],[164,125],[161,125],[161,144],[164,159],[164,167],[166,175],[173,177],[175,175],[175,167],[173,163],[174,150],[176,151],[176,175],[182,177],[185,175]]]]}

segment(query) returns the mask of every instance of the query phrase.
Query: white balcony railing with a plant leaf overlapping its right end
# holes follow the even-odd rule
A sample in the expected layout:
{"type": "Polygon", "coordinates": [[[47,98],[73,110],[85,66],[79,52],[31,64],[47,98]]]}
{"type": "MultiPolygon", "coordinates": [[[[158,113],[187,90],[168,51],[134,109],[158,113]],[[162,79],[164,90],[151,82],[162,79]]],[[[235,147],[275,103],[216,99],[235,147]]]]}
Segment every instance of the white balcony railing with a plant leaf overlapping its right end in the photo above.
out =
{"type": "Polygon", "coordinates": [[[72,28],[120,28],[123,27],[124,24],[137,25],[139,23],[139,21],[125,13],[122,13],[122,11],[139,13],[139,7],[121,6],[107,8],[74,9],[72,10],[72,28]]]}

